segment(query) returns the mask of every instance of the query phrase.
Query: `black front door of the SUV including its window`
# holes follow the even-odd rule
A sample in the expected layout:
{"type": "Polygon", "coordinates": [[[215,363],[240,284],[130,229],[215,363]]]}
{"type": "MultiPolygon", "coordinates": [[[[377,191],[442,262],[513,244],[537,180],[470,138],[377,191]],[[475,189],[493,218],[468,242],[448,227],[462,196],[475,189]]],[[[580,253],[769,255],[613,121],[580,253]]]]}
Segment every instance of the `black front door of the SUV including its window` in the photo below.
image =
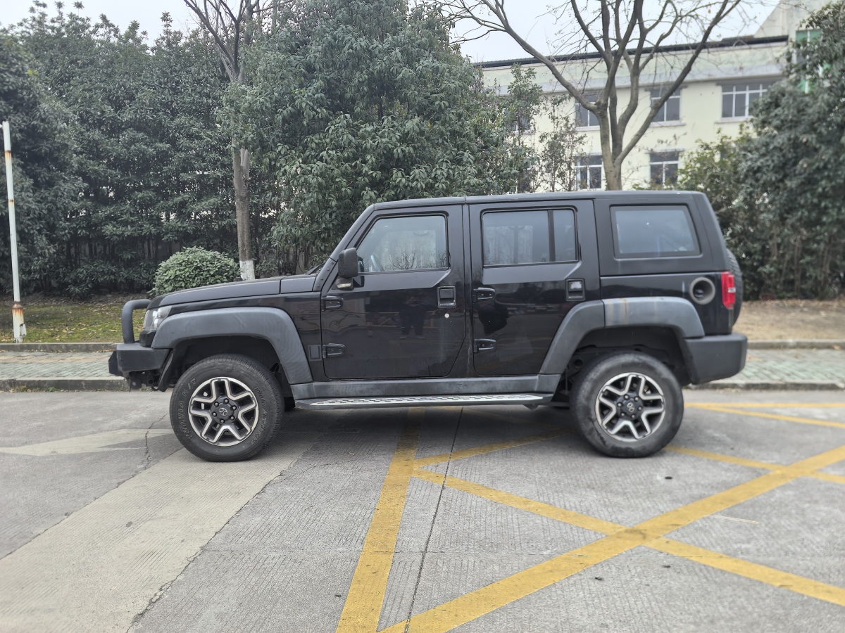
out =
{"type": "Polygon", "coordinates": [[[461,206],[379,210],[350,246],[355,287],[323,293],[326,376],[449,374],[466,332],[461,206]]]}

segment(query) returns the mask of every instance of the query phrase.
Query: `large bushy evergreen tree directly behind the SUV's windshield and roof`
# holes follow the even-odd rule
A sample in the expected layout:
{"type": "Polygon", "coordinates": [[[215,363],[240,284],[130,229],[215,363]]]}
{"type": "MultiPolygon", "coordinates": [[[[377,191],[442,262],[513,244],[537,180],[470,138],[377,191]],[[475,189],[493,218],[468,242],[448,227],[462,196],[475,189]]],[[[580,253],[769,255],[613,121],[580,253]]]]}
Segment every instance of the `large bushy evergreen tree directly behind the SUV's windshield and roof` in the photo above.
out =
{"type": "Polygon", "coordinates": [[[429,6],[308,0],[247,59],[226,116],[276,183],[280,266],[329,254],[370,203],[515,189],[525,153],[429,6]]]}

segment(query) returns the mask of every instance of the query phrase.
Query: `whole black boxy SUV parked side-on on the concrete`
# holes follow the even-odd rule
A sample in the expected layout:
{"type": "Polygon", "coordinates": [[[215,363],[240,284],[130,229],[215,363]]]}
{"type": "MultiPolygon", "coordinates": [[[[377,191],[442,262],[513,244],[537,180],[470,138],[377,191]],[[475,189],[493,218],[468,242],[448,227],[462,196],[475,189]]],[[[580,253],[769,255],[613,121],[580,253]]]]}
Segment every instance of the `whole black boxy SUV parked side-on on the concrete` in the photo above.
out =
{"type": "Polygon", "coordinates": [[[214,461],[256,455],[294,406],[429,404],[570,408],[598,451],[643,457],[682,385],[742,370],[741,300],[701,193],[406,200],[313,273],[130,301],[110,370],[174,387],[173,430],[214,461]]]}

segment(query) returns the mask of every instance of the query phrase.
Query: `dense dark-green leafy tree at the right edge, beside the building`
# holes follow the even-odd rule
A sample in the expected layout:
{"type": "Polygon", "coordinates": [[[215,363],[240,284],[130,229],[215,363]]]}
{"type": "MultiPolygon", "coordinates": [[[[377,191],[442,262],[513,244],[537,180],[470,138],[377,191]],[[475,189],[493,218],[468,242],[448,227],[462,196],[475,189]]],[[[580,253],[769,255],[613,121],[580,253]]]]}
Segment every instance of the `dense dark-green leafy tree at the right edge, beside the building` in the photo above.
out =
{"type": "Polygon", "coordinates": [[[845,5],[804,23],[788,79],[756,104],[756,138],[743,170],[744,197],[766,210],[766,292],[838,295],[845,287],[845,5]]]}

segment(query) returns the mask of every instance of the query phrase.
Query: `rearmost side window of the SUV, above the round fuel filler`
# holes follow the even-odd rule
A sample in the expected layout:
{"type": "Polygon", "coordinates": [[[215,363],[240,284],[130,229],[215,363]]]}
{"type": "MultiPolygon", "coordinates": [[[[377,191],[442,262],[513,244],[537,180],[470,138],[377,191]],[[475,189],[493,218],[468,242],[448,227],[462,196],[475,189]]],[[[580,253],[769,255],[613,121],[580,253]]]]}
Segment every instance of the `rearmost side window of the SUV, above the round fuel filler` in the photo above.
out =
{"type": "Polygon", "coordinates": [[[701,250],[686,207],[612,207],[616,257],[684,257],[701,250]]]}

